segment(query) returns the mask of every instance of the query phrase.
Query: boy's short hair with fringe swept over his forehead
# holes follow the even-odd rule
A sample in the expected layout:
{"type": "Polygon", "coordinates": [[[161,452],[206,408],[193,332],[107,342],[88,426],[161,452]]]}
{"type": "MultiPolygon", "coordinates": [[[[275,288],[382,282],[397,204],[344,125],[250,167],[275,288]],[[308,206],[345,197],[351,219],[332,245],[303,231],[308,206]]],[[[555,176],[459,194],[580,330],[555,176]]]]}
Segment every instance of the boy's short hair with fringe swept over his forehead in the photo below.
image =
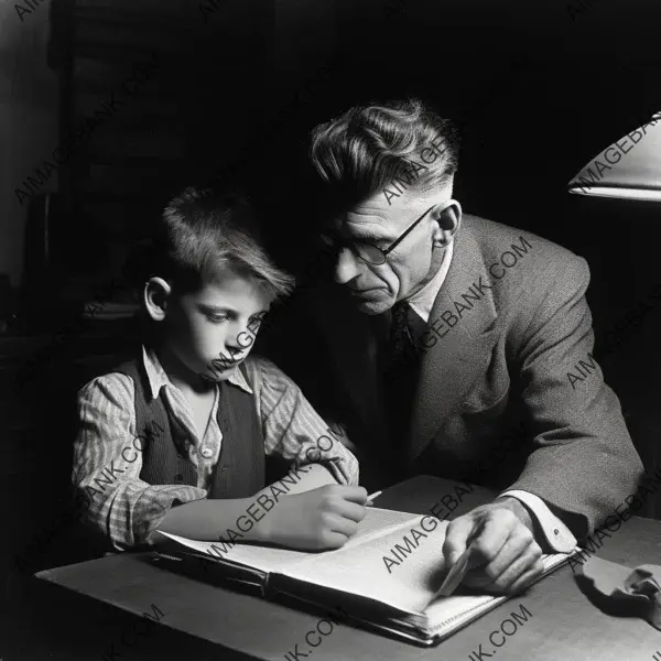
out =
{"type": "Polygon", "coordinates": [[[294,286],[261,247],[252,207],[239,195],[188,186],[163,210],[154,239],[152,273],[178,290],[197,290],[227,269],[273,297],[294,286]]]}

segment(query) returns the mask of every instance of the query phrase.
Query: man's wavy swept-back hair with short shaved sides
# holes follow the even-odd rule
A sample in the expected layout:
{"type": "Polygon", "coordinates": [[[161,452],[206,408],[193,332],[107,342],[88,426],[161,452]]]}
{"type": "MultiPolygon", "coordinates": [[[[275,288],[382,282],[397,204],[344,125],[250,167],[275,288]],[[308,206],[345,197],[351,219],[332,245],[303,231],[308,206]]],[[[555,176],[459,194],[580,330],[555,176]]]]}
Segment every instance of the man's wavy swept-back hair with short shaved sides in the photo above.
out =
{"type": "Polygon", "coordinates": [[[458,132],[448,120],[409,99],[356,106],[315,127],[310,156],[335,202],[353,206],[392,186],[394,177],[415,191],[444,185],[456,172],[458,148],[458,132]],[[436,159],[425,163],[421,152],[432,144],[437,149],[426,153],[436,159]],[[407,178],[407,172],[415,176],[407,178]]]}

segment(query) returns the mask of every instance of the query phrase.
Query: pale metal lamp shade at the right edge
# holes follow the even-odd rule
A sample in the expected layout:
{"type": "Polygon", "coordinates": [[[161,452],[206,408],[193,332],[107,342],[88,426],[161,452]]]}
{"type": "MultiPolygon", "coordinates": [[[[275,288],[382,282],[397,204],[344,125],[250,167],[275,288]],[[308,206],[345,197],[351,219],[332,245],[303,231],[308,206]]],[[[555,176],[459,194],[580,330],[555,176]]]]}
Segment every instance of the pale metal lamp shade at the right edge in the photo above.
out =
{"type": "Polygon", "coordinates": [[[570,193],[661,202],[661,112],[595,156],[570,193]]]}

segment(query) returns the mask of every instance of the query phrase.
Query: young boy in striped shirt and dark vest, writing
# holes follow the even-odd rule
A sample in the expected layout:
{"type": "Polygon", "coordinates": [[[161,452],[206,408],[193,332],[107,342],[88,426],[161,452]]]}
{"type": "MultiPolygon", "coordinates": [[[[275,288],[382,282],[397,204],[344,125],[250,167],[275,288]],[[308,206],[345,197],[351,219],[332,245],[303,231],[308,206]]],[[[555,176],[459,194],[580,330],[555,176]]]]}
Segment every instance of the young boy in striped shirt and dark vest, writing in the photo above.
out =
{"type": "Polygon", "coordinates": [[[247,359],[246,338],[293,283],[251,223],[232,196],[174,198],[142,291],[143,345],[78,393],[73,481],[85,522],[116,549],[163,540],[156,529],[212,541],[236,528],[246,540],[334,549],[365,516],[354,455],[322,445],[327,426],[283,372],[247,359]],[[266,455],[294,472],[264,487],[266,455]]]}

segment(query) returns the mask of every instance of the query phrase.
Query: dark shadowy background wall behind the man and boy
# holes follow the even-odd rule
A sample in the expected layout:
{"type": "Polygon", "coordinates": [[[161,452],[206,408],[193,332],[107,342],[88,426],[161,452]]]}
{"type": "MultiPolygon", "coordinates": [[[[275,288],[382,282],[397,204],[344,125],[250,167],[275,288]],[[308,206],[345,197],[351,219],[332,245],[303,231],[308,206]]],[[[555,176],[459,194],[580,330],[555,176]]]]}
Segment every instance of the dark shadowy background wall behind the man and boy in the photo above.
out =
{"type": "MultiPolygon", "coordinates": [[[[14,559],[29,544],[41,549],[31,571],[73,557],[68,533],[39,535],[68,507],[72,389],[111,357],[117,335],[110,322],[80,322],[82,304],[130,301],[128,291],[106,300],[99,291],[189,183],[249,192],[273,252],[304,277],[315,203],[306,136],[356,104],[415,96],[455,119],[464,209],[587,259],[596,356],[607,334],[619,338],[603,369],[646,467],[661,465],[661,316],[653,307],[628,318],[653,304],[661,282],[661,214],[566,191],[587,161],[661,108],[660,10],[644,0],[579,1],[218,0],[206,22],[201,3],[186,0],[51,0],[22,20],[2,7],[1,551],[13,616],[4,621],[30,649],[6,658],[75,644],[54,642],[54,629],[30,636],[36,619],[48,620],[47,599],[14,559]],[[21,205],[15,188],[150,53],[160,65],[136,97],[122,97],[21,205]]],[[[290,328],[281,339],[283,367],[297,378],[289,349],[314,351],[314,334],[290,328]]],[[[306,394],[317,403],[318,391],[306,394]]],[[[658,506],[647,513],[659,516],[658,506]]]]}

